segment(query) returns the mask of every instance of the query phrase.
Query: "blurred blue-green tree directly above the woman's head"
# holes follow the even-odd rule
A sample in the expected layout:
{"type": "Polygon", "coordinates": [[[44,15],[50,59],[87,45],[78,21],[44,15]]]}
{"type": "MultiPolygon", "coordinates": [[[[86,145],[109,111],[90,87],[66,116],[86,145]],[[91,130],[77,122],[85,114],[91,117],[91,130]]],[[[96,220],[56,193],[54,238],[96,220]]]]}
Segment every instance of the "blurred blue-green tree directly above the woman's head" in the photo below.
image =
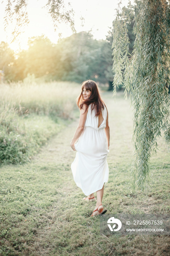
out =
{"type": "Polygon", "coordinates": [[[63,80],[83,82],[93,79],[107,82],[102,63],[104,41],[93,39],[90,32],[82,31],[64,38],[60,42],[63,80]]]}

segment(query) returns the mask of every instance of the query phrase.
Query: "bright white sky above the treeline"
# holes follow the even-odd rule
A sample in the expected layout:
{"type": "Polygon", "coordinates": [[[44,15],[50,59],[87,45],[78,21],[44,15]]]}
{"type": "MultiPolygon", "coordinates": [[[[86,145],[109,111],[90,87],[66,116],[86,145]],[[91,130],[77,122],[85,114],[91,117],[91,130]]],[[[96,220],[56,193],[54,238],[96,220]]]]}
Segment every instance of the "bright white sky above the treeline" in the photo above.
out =
{"type": "MultiPolygon", "coordinates": [[[[127,6],[129,0],[122,0],[121,6],[127,6]]],[[[5,3],[0,1],[0,42],[8,42],[9,46],[16,50],[19,48],[27,49],[28,38],[45,34],[53,43],[57,43],[58,33],[62,33],[62,37],[68,37],[73,34],[69,24],[59,25],[59,29],[55,32],[53,22],[45,8],[47,0],[28,0],[28,18],[30,23],[24,27],[24,33],[18,38],[19,42],[11,44],[11,26],[4,31],[5,3]]],[[[96,39],[105,39],[112,21],[115,19],[116,8],[120,0],[64,0],[72,5],[74,10],[75,29],[80,31],[91,31],[96,39]],[[84,18],[83,26],[81,17],[84,18]]],[[[131,0],[134,3],[134,0],[131,0]]]]}

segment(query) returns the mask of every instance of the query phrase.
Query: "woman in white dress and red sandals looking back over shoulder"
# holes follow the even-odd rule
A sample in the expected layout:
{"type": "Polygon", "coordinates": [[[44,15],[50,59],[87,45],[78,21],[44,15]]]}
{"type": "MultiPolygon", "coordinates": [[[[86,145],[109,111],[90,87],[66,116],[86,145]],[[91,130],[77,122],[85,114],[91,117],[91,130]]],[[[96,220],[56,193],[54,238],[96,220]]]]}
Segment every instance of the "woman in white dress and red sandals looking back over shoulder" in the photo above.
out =
{"type": "Polygon", "coordinates": [[[102,197],[104,183],[108,181],[109,176],[107,163],[110,139],[108,111],[94,81],[85,81],[81,89],[77,102],[80,108],[80,120],[70,143],[72,149],[77,150],[71,169],[76,185],[87,196],[84,197],[84,200],[96,200],[93,194],[96,192],[96,207],[91,215],[96,217],[107,211],[103,210],[102,197]]]}

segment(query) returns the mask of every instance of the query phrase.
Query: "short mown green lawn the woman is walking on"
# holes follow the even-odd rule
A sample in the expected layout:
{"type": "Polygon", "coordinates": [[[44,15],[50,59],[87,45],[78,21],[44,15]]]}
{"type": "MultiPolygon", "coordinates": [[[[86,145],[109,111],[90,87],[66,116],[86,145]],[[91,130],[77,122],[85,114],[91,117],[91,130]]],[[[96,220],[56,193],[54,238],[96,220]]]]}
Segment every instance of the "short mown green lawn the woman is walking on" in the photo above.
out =
{"type": "MultiPolygon", "coordinates": [[[[122,93],[116,102],[111,93],[104,99],[111,128],[104,207],[109,214],[168,214],[170,157],[163,138],[151,158],[150,184],[144,192],[133,190],[132,109],[122,93]]],[[[70,170],[77,123],[50,139],[30,163],[0,168],[0,255],[169,255],[168,236],[100,235],[99,218],[89,218],[95,203],[82,201],[70,170]]]]}

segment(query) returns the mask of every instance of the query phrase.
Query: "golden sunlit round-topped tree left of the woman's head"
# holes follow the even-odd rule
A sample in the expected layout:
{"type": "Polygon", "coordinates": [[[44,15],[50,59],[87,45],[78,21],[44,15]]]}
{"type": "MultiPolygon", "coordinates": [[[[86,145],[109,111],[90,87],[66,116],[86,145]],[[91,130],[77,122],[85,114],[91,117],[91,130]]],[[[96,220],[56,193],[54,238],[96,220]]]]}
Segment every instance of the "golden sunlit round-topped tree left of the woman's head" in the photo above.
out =
{"type": "Polygon", "coordinates": [[[18,53],[16,59],[16,80],[23,80],[28,74],[46,80],[61,80],[63,67],[61,65],[61,47],[52,44],[45,35],[31,37],[28,40],[28,50],[18,53]]]}

